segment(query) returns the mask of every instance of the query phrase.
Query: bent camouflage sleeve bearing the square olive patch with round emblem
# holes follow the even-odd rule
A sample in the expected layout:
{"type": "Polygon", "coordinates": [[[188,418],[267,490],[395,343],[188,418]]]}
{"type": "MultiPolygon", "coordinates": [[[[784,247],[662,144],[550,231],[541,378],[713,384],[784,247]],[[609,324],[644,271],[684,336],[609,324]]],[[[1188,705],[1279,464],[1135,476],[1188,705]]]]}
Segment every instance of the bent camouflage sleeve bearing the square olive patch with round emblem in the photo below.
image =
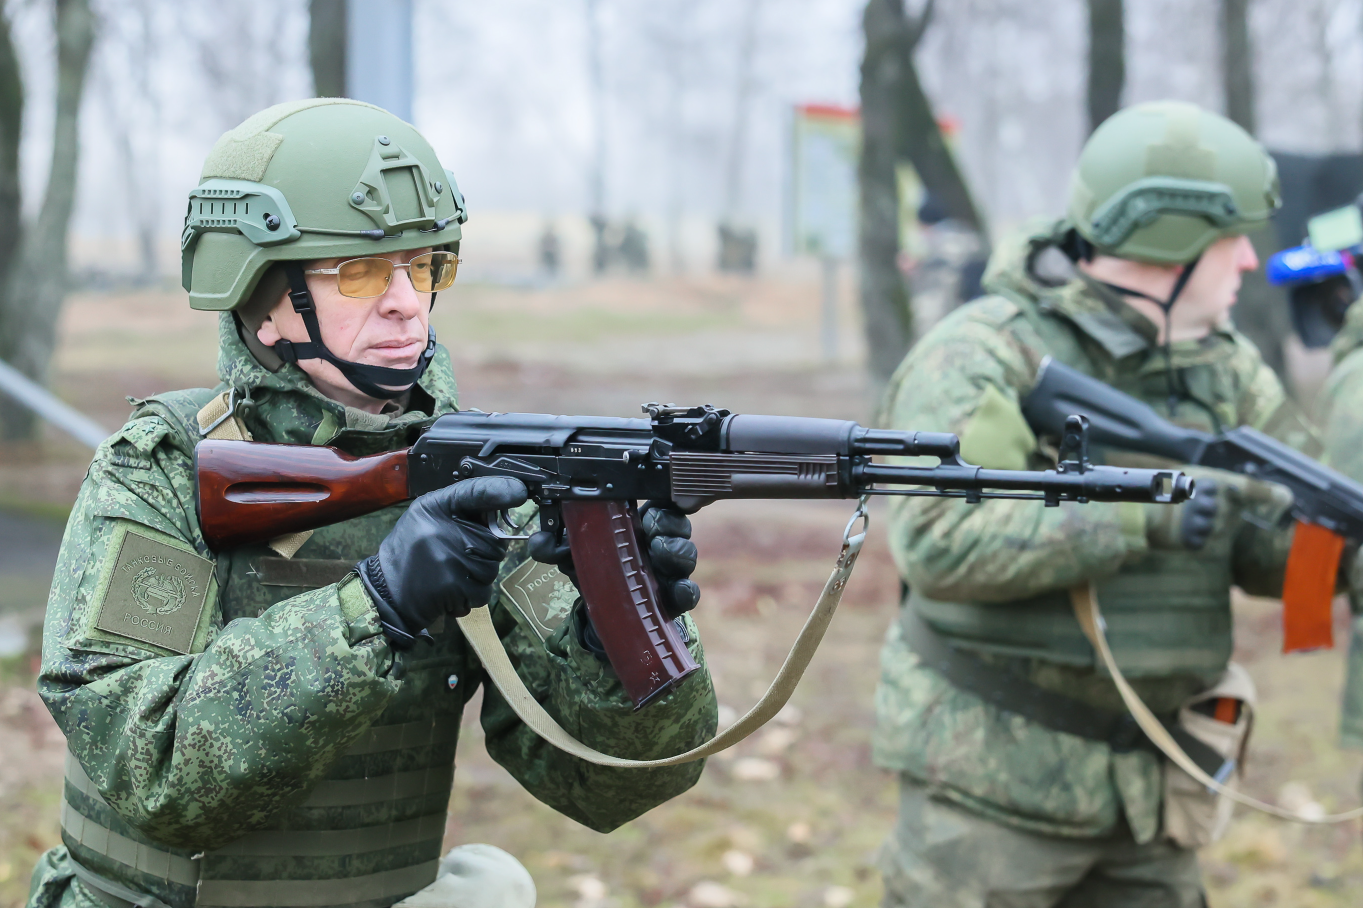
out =
{"type": "Polygon", "coordinates": [[[202,849],[305,796],[397,682],[354,582],[222,626],[192,466],[166,432],[136,420],[95,455],[61,544],[38,691],[123,819],[202,849]]]}

